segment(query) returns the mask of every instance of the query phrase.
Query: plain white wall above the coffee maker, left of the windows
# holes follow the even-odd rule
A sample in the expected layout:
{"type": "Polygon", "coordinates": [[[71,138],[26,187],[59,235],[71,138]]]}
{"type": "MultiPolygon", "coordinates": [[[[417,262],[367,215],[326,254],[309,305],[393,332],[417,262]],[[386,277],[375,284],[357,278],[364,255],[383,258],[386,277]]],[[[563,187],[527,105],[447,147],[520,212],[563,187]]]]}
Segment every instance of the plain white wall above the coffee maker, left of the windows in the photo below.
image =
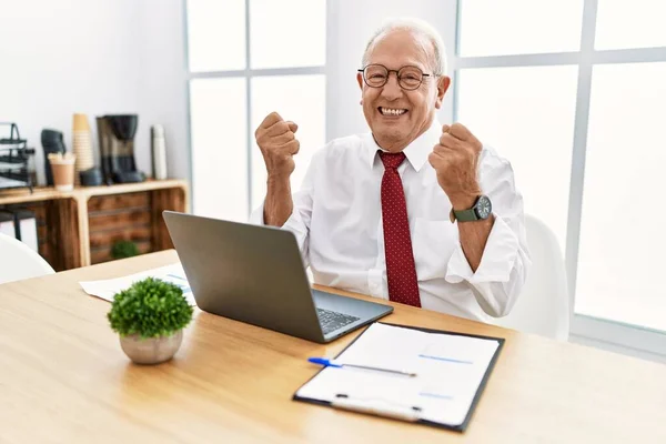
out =
{"type": "MultiPolygon", "coordinates": [[[[171,176],[186,178],[186,83],[182,0],[0,0],[0,121],[17,122],[37,149],[41,130],[72,114],[138,113],[138,168],[150,172],[150,125],[167,131],[171,176]]],[[[99,163],[98,163],[99,165],[99,163]]]]}

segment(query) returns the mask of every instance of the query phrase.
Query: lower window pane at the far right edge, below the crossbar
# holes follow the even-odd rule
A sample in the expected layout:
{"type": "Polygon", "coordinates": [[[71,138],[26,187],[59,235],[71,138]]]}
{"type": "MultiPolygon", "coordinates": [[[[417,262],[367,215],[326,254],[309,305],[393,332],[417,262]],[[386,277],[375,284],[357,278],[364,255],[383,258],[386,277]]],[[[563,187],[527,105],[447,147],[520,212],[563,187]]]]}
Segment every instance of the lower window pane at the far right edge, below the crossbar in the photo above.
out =
{"type": "Polygon", "coordinates": [[[666,330],[666,62],[595,65],[576,311],[666,330]]]}

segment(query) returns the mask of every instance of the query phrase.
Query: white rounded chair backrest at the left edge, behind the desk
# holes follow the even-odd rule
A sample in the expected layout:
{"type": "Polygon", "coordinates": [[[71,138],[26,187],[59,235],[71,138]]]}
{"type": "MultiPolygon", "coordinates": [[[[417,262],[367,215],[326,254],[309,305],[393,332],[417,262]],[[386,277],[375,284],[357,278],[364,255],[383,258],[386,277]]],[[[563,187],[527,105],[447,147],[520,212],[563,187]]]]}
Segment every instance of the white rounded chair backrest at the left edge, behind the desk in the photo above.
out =
{"type": "Polygon", "coordinates": [[[52,273],[53,268],[30,246],[0,233],[0,284],[52,273]]]}

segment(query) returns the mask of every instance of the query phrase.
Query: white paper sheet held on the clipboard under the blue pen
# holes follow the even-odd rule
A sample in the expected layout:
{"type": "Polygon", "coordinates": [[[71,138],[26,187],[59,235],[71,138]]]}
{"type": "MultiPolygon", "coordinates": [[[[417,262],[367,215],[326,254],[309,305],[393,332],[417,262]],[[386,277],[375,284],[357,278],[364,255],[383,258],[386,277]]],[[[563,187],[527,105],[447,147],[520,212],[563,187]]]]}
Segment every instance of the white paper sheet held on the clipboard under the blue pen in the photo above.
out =
{"type": "Polygon", "coordinates": [[[296,393],[333,402],[337,394],[395,408],[418,407],[423,420],[461,425],[500,346],[482,340],[372,324],[336,362],[416,373],[415,377],[353,367],[326,367],[296,393]]]}

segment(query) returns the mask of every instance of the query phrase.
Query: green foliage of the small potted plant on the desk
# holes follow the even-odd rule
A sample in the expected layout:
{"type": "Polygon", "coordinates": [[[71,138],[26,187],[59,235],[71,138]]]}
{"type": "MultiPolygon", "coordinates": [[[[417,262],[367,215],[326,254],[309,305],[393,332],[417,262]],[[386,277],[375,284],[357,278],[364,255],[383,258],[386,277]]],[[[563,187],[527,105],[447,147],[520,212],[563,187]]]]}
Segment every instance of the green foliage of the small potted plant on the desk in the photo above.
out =
{"type": "Polygon", "coordinates": [[[192,312],[178,285],[147,278],[117,293],[107,317],[121,336],[158,337],[183,329],[192,312]]]}

